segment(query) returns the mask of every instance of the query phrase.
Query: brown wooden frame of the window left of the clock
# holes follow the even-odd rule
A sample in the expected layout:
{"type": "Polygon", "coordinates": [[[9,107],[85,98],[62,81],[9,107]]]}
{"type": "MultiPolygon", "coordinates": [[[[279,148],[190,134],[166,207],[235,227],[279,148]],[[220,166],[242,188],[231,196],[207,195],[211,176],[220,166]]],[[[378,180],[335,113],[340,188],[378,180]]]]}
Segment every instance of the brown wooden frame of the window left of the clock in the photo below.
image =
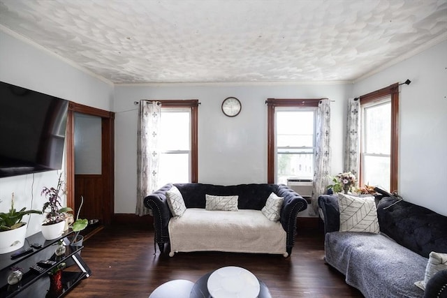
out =
{"type": "Polygon", "coordinates": [[[191,156],[190,156],[190,168],[189,177],[191,183],[198,183],[198,105],[197,99],[187,100],[156,100],[161,103],[162,109],[177,109],[177,108],[190,108],[191,123],[190,123],[190,141],[191,141],[191,156]]]}

